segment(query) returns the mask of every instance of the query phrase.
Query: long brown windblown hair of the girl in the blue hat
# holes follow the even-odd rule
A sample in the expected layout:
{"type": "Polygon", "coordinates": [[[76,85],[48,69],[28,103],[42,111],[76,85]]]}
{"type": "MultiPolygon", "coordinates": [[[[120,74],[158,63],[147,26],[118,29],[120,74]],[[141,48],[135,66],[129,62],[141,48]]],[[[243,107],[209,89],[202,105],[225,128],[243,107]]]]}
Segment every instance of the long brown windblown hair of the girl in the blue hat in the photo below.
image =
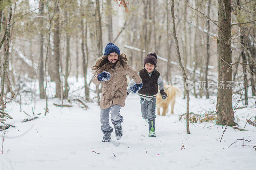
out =
{"type": "Polygon", "coordinates": [[[99,59],[95,61],[95,65],[92,66],[92,70],[95,70],[93,73],[96,73],[98,70],[108,70],[112,68],[118,61],[120,61],[120,64],[124,66],[124,62],[127,62],[129,59],[126,57],[124,53],[118,54],[118,59],[115,63],[111,63],[108,61],[108,55],[101,56],[99,59]]]}

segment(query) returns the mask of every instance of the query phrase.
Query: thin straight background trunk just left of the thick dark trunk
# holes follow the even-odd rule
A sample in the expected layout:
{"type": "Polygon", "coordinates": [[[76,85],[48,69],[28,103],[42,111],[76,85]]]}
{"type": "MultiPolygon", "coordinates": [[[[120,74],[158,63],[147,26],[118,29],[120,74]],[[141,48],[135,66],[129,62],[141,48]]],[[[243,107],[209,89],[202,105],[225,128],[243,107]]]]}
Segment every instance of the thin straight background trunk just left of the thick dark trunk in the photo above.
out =
{"type": "MultiPolygon", "coordinates": [[[[208,12],[207,12],[207,16],[210,17],[210,4],[211,4],[211,0],[209,0],[208,2],[208,12]]],[[[211,18],[211,17],[210,17],[211,18]]],[[[210,21],[207,20],[207,32],[210,33],[210,21]]],[[[208,65],[209,65],[209,60],[210,60],[210,35],[207,34],[206,35],[206,64],[205,64],[205,91],[206,91],[206,99],[209,99],[209,91],[208,91],[208,79],[207,79],[207,75],[208,75],[208,65]]]]}

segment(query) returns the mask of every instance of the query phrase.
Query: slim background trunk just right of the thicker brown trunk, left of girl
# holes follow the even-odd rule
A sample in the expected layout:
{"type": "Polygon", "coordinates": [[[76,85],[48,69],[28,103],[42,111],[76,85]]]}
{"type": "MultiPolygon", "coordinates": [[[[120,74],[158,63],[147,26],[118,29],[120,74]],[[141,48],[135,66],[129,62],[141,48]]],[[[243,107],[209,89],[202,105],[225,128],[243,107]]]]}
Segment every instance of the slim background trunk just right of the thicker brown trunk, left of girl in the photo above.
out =
{"type": "Polygon", "coordinates": [[[67,13],[67,1],[65,0],[65,9],[64,9],[64,19],[65,19],[65,32],[66,32],[66,59],[65,59],[65,84],[64,84],[64,99],[68,99],[68,91],[69,91],[69,86],[68,86],[68,75],[69,75],[69,58],[70,58],[70,33],[69,33],[69,26],[68,26],[68,13],[67,13]]]}

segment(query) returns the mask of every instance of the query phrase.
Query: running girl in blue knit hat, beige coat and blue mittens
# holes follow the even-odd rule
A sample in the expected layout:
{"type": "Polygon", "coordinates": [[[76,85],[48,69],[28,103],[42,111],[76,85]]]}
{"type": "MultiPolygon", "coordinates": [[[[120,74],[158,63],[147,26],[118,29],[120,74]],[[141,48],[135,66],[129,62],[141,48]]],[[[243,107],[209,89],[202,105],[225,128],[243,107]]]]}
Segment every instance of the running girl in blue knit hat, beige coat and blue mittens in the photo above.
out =
{"type": "Polygon", "coordinates": [[[95,70],[95,76],[92,79],[93,84],[100,85],[102,82],[102,94],[100,100],[100,122],[101,131],[103,132],[102,142],[111,141],[113,128],[109,126],[109,112],[111,121],[115,127],[116,139],[123,136],[122,125],[123,116],[119,114],[121,107],[124,107],[127,95],[128,74],[135,81],[134,89],[137,91],[142,87],[142,79],[127,64],[128,58],[125,54],[120,54],[119,48],[108,43],[105,47],[104,56],[96,60],[92,70],[95,70]]]}

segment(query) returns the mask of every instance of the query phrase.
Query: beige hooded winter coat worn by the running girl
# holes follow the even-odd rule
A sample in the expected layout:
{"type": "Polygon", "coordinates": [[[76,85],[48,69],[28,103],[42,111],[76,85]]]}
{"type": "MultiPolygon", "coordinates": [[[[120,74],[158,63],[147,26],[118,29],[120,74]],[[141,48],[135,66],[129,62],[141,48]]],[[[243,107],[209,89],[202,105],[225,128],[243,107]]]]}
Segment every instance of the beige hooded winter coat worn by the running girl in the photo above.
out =
{"type": "Polygon", "coordinates": [[[125,98],[127,95],[127,79],[126,75],[129,75],[134,79],[137,84],[142,82],[142,79],[131,66],[124,62],[124,67],[120,64],[120,61],[116,63],[115,69],[100,70],[96,72],[92,79],[95,85],[100,85],[101,81],[98,80],[98,75],[107,71],[111,74],[110,80],[102,81],[102,94],[100,100],[100,108],[106,109],[113,105],[121,105],[124,107],[125,98]]]}

